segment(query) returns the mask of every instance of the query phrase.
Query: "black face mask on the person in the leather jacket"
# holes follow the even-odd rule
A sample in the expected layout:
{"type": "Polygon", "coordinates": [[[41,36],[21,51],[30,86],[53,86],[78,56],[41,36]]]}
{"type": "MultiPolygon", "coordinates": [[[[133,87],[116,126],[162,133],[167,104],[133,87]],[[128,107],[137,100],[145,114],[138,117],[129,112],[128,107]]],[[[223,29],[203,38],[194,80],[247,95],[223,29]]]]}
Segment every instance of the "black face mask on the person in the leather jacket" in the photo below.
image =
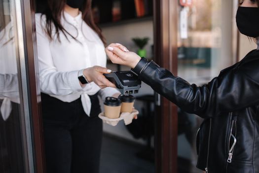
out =
{"type": "Polygon", "coordinates": [[[259,37],[259,8],[238,7],[236,25],[240,33],[248,37],[259,37]]]}

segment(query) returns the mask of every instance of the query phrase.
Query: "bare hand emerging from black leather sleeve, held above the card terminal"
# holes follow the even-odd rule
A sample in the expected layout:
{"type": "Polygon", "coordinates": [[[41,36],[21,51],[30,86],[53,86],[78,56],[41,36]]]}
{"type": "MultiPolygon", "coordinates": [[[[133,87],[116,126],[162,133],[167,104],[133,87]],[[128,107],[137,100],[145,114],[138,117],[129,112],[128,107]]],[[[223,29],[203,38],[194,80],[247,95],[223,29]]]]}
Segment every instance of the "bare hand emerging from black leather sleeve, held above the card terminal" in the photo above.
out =
{"type": "Polygon", "coordinates": [[[119,43],[111,43],[106,47],[105,51],[112,63],[126,65],[131,68],[134,68],[141,59],[139,55],[129,51],[119,43]]]}

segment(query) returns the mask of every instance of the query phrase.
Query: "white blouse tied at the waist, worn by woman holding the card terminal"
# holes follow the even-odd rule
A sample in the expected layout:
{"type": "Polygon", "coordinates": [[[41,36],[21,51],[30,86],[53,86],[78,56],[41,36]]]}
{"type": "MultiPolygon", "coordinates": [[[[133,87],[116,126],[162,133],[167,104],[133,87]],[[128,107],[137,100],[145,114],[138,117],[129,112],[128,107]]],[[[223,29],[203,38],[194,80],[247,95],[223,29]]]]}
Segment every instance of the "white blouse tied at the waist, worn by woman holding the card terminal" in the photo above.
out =
{"type": "Polygon", "coordinates": [[[105,47],[101,39],[83,20],[81,12],[72,17],[64,12],[61,17],[62,26],[76,38],[67,34],[69,40],[60,32],[58,41],[53,27],[53,40],[48,39],[45,30],[45,16],[36,14],[37,50],[39,62],[39,80],[41,92],[49,94],[64,102],[72,102],[81,96],[82,106],[89,116],[91,101],[88,95],[100,90],[103,100],[107,96],[118,93],[115,88],[100,89],[95,83],[81,87],[78,72],[95,65],[106,67],[105,47]],[[78,42],[79,41],[79,42],[78,42]]]}

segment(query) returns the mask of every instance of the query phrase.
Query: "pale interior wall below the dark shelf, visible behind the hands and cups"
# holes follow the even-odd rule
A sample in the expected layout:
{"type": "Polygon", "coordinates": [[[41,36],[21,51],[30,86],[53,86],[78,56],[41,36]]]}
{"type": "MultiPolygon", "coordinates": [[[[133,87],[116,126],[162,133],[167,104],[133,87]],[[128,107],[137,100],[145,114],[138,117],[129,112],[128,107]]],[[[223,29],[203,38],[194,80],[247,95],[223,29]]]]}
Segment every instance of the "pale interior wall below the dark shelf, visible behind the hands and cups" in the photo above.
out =
{"type": "MultiPolygon", "coordinates": [[[[153,22],[152,20],[142,21],[142,22],[135,22],[117,26],[109,26],[102,28],[103,34],[107,39],[107,43],[121,43],[125,45],[130,51],[137,51],[136,45],[131,41],[134,37],[149,37],[150,40],[148,45],[145,47],[147,49],[147,58],[150,59],[152,56],[151,53],[151,45],[153,44],[153,22]]],[[[113,71],[116,71],[116,65],[108,63],[107,67],[113,71]]],[[[121,66],[121,70],[130,70],[130,68],[121,66]]],[[[146,85],[145,83],[142,84],[140,93],[135,94],[134,96],[140,96],[145,94],[153,94],[153,90],[151,87],[146,85]]],[[[138,101],[135,102],[135,108],[137,110],[141,110],[143,104],[142,102],[138,101]]],[[[104,124],[104,131],[111,133],[113,135],[132,140],[135,142],[139,142],[145,144],[146,142],[142,139],[136,140],[126,129],[124,123],[121,121],[115,127],[112,127],[108,124],[104,124]]]]}

